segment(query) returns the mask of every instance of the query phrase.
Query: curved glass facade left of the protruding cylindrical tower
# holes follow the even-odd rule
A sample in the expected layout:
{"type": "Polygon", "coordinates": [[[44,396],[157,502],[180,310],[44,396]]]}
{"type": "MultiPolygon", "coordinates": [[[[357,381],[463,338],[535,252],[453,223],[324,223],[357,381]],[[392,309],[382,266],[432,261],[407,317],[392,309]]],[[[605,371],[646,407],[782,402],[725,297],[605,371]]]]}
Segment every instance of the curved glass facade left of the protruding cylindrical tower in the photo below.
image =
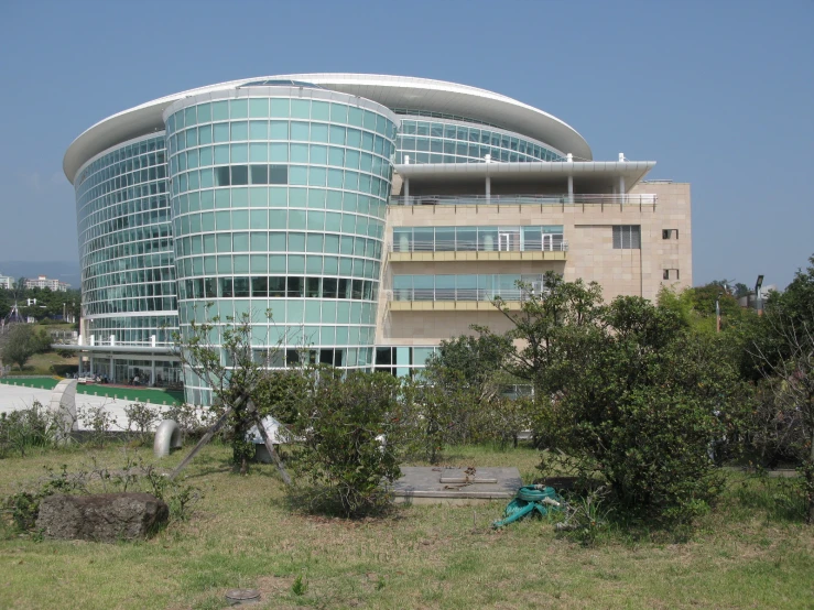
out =
{"type": "Polygon", "coordinates": [[[171,342],[178,325],[164,133],[97,155],[74,184],[88,334],[171,342]]]}

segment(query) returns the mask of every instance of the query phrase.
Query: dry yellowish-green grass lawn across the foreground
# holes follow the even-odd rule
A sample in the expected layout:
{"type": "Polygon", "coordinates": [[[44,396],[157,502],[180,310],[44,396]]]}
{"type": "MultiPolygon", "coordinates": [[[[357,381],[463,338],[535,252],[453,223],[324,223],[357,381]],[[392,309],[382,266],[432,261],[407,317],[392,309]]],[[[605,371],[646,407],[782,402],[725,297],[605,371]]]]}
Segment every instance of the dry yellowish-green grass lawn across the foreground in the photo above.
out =
{"type": "MultiPolygon", "coordinates": [[[[121,468],[124,450],[95,457],[121,468]]],[[[617,533],[584,547],[545,521],[492,531],[502,502],[409,506],[359,522],[296,514],[273,467],[239,477],[228,457],[216,445],[196,458],[187,482],[205,498],[191,520],[149,542],[35,542],[7,533],[0,608],[221,608],[226,590],[238,587],[260,589],[259,608],[812,608],[814,600],[814,535],[768,518],[771,490],[760,486],[772,481],[730,473],[721,504],[688,542],[617,533]],[[299,576],[302,595],[293,590],[299,576]]],[[[77,449],[7,458],[0,495],[36,479],[43,466],[89,461],[77,449]]],[[[536,461],[528,448],[467,447],[445,464],[518,466],[528,481],[536,461]]]]}

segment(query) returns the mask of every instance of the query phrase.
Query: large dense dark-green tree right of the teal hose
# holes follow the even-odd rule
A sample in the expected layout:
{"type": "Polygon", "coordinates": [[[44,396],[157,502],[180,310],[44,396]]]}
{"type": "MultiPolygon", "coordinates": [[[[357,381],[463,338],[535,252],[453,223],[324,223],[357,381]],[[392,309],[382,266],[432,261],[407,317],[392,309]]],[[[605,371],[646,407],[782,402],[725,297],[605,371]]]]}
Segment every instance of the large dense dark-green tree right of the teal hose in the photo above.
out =
{"type": "Polygon", "coordinates": [[[740,404],[737,367],[714,335],[640,297],[603,305],[598,286],[550,279],[520,314],[510,359],[534,383],[552,448],[610,483],[627,512],[692,519],[719,491],[709,458],[740,404]]]}

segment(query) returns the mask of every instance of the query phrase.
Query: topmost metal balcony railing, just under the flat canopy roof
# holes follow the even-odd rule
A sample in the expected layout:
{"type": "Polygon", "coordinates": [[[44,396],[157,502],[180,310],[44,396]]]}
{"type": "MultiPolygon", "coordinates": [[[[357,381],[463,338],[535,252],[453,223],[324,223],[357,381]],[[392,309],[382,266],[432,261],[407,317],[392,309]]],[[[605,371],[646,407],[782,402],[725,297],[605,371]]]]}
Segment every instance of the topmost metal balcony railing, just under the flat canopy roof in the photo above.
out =
{"type": "Polygon", "coordinates": [[[411,195],[409,197],[390,197],[392,206],[476,206],[476,205],[535,205],[562,206],[573,204],[590,205],[655,205],[654,194],[614,195],[614,194],[575,194],[575,195],[411,195]]]}

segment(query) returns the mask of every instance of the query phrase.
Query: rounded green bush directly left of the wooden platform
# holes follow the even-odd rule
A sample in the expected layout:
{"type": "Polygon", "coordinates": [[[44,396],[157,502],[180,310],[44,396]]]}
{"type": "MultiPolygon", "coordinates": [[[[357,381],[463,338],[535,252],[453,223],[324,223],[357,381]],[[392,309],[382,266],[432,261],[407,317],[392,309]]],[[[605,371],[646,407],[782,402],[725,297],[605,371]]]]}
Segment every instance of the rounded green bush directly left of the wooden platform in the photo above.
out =
{"type": "Polygon", "coordinates": [[[390,506],[401,476],[404,427],[400,382],[384,373],[319,369],[293,426],[299,438],[294,499],[306,509],[356,518],[390,506]]]}

